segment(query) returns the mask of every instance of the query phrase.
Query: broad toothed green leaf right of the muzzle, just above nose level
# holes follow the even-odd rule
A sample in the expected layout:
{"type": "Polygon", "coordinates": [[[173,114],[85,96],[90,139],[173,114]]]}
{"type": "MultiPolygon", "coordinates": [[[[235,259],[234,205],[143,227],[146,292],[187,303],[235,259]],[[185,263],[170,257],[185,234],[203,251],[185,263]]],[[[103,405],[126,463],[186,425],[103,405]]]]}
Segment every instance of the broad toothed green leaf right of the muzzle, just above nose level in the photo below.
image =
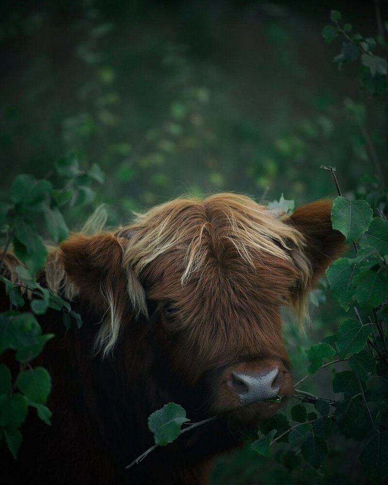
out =
{"type": "Polygon", "coordinates": [[[358,353],[365,347],[368,335],[372,329],[368,325],[362,326],[353,318],[345,320],[337,331],[337,350],[339,357],[344,359],[348,353],[358,353]]]}

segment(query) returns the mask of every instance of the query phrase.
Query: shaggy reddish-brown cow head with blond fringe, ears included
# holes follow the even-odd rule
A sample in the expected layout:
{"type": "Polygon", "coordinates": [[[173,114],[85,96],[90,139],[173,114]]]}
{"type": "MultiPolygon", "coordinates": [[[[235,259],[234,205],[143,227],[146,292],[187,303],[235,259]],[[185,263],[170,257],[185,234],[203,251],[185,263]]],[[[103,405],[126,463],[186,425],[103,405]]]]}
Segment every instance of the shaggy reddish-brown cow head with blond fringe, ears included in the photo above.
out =
{"type": "MultiPolygon", "coordinates": [[[[280,308],[303,318],[308,290],[338,255],[330,211],[330,201],[279,217],[234,194],[177,199],[114,235],[72,236],[62,261],[106,315],[96,340],[105,356],[137,326],[132,338],[152,334],[162,352],[159,372],[200,386],[210,414],[253,423],[292,393],[280,308]]],[[[128,358],[141,359],[144,346],[132,347],[128,358]]]]}

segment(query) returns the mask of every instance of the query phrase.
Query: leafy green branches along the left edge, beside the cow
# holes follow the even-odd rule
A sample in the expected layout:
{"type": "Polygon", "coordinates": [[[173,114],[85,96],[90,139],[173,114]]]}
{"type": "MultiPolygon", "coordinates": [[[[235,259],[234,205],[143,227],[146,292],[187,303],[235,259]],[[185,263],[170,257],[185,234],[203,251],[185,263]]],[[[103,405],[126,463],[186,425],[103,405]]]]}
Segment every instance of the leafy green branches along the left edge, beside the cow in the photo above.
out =
{"type": "Polygon", "coordinates": [[[92,182],[103,182],[103,173],[97,165],[81,171],[75,157],[62,158],[55,167],[64,180],[62,188],[54,188],[49,178],[38,180],[21,174],[11,184],[9,198],[0,202],[3,240],[0,282],[10,301],[10,309],[0,314],[0,354],[12,351],[16,360],[12,369],[0,364],[0,436],[14,458],[22,442],[19,428],[29,408],[35,408],[47,425],[51,422],[51,411],[46,405],[51,378],[45,368],[32,368],[32,365],[54,335],[42,334],[35,316],[44,315],[50,309],[62,313],[66,328],[70,327],[72,318],[78,327],[82,323],[81,316],[67,301],[50,293],[36,279],[48,255],[43,237],[50,236],[54,244],[64,240],[68,229],[61,212],[63,207],[89,204],[94,199],[92,182]],[[10,247],[22,263],[16,267],[17,278],[12,281],[8,278],[11,275],[6,261],[10,247]],[[26,298],[29,295],[31,298],[26,298]]]}

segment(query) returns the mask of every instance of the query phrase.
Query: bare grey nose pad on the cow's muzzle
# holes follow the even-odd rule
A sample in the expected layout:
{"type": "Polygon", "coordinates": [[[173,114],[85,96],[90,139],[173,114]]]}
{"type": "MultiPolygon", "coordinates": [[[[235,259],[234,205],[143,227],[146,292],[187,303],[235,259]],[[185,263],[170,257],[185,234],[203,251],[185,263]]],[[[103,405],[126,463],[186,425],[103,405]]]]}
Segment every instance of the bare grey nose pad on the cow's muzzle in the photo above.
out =
{"type": "Polygon", "coordinates": [[[275,398],[280,389],[280,379],[278,367],[262,374],[232,372],[231,386],[244,405],[275,398]]]}

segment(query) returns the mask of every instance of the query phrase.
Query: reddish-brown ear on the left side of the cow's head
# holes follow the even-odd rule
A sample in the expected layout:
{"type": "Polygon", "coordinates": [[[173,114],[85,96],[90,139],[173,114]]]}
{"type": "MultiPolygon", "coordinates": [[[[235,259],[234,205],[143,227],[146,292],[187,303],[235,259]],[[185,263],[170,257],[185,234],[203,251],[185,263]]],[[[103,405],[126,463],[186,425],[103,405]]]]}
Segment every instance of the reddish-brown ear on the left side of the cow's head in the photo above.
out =
{"type": "Polygon", "coordinates": [[[123,267],[121,238],[113,234],[73,234],[60,250],[66,279],[76,286],[82,300],[100,311],[110,309],[111,314],[132,310],[135,315],[146,315],[143,286],[123,267]]]}

